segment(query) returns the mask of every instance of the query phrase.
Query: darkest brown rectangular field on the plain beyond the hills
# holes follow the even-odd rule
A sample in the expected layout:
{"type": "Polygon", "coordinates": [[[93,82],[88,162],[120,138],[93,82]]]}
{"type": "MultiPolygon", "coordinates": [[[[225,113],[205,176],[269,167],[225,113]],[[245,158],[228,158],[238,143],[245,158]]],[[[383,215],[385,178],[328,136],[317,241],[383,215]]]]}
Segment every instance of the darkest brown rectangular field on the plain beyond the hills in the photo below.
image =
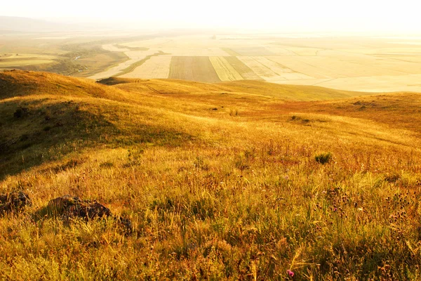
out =
{"type": "Polygon", "coordinates": [[[173,56],[168,78],[191,81],[221,81],[208,57],[173,56]]]}

